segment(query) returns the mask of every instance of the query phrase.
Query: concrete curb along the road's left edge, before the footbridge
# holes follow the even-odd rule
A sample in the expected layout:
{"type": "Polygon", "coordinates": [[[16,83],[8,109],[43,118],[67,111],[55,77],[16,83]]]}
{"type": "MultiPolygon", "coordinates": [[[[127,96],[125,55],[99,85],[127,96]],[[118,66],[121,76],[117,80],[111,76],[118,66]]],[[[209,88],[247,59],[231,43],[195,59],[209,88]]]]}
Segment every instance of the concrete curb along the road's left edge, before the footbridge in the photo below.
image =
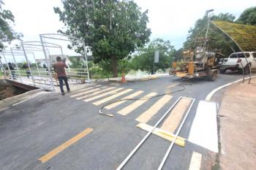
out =
{"type": "Polygon", "coordinates": [[[15,104],[19,101],[22,101],[24,99],[27,99],[29,98],[31,95],[35,94],[35,93],[39,93],[39,92],[42,92],[44,90],[42,89],[37,89],[37,90],[31,90],[31,91],[28,91],[26,93],[22,93],[22,94],[19,94],[17,96],[12,96],[10,98],[5,98],[4,100],[1,100],[0,101],[0,108],[4,108],[4,107],[9,107],[10,105],[12,104],[15,104]]]}

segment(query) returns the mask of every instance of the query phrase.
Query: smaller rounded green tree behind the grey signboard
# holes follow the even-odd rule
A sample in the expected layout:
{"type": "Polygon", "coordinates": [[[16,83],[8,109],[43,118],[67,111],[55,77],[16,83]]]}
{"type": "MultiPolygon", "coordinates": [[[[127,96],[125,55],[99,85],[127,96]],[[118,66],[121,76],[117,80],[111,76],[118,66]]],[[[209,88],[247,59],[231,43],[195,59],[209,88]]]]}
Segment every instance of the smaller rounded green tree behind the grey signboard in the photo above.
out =
{"type": "Polygon", "coordinates": [[[138,54],[132,58],[132,66],[134,69],[154,74],[159,69],[165,70],[169,68],[175,57],[174,55],[175,49],[170,45],[169,41],[154,39],[146,47],[138,50],[138,54]],[[157,50],[159,50],[159,63],[154,63],[154,54],[157,50]]]}

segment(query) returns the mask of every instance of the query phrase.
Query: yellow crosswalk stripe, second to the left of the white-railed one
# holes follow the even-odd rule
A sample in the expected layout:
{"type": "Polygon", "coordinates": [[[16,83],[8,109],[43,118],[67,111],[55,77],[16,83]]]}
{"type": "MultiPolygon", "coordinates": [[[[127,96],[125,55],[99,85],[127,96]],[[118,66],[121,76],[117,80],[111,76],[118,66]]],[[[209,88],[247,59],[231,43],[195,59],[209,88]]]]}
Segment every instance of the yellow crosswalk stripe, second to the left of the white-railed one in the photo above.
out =
{"type": "Polygon", "coordinates": [[[130,112],[137,109],[138,107],[140,107],[140,105],[142,105],[146,101],[148,101],[149,97],[153,97],[153,96],[156,96],[156,95],[157,95],[157,93],[148,93],[146,96],[142,97],[142,98],[148,98],[148,99],[135,101],[132,104],[130,104],[129,106],[124,107],[124,109],[119,110],[118,113],[121,114],[121,115],[128,115],[130,112]]]}

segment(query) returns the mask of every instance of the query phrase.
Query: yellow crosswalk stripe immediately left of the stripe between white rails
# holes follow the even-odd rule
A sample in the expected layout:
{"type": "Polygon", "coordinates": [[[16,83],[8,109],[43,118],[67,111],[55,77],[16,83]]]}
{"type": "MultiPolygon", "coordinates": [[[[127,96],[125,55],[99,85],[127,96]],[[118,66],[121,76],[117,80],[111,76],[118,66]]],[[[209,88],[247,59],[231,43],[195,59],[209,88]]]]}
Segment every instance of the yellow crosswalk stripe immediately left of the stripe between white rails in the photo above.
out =
{"type": "Polygon", "coordinates": [[[143,112],[143,114],[137,117],[136,120],[141,123],[148,122],[148,120],[150,120],[151,117],[157,114],[159,109],[161,109],[168,101],[170,101],[170,98],[172,98],[172,96],[169,96],[169,95],[163,96],[155,104],[153,104],[148,110],[146,110],[146,112],[143,112]]]}

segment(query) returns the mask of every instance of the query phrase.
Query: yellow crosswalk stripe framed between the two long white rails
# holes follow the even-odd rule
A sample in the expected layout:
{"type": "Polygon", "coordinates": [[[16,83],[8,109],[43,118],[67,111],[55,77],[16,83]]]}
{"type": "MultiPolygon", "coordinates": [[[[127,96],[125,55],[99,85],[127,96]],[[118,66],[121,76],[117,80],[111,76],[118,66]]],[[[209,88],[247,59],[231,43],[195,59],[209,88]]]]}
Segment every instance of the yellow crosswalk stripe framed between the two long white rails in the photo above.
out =
{"type": "Polygon", "coordinates": [[[186,112],[187,108],[189,107],[191,101],[192,100],[189,98],[181,98],[181,100],[178,101],[176,107],[174,107],[173,110],[170,112],[170,115],[162,124],[161,128],[165,131],[170,131],[171,133],[173,133],[180,124],[181,118],[184,115],[184,112],[186,112]]]}

